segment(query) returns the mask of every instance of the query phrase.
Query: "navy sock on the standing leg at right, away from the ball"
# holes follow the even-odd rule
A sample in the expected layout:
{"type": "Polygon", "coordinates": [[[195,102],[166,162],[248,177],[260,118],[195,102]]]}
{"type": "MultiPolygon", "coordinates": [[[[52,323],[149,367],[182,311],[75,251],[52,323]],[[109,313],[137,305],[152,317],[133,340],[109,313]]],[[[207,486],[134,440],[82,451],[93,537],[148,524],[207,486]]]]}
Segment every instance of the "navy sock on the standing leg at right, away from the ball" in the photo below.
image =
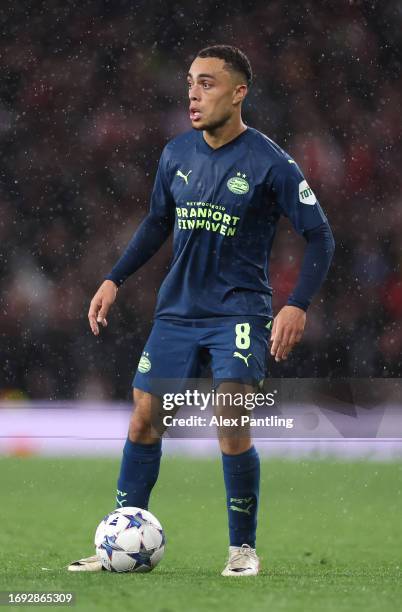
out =
{"type": "Polygon", "coordinates": [[[260,459],[254,446],[240,455],[222,453],[231,546],[255,548],[260,459]]]}

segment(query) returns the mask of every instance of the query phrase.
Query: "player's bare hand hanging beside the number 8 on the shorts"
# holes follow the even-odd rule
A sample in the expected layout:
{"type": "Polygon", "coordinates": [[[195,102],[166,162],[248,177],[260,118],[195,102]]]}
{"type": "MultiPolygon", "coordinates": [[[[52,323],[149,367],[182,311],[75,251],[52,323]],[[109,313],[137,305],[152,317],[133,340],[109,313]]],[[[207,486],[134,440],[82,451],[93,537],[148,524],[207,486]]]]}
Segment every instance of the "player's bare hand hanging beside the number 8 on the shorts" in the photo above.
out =
{"type": "Polygon", "coordinates": [[[284,306],[276,315],[271,332],[271,355],[275,361],[287,358],[300,342],[306,325],[306,313],[297,306],[284,306]]]}

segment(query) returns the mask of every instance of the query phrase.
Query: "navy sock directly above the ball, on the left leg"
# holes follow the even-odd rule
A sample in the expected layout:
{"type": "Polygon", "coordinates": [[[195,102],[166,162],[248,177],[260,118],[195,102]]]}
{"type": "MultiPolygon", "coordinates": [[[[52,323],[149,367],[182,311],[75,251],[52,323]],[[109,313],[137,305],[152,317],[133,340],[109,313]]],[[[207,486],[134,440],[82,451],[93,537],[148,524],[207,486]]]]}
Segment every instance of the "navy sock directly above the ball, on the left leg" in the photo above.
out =
{"type": "Polygon", "coordinates": [[[117,508],[137,506],[148,509],[149,496],[158,479],[162,442],[141,444],[127,438],[117,482],[117,508]]]}

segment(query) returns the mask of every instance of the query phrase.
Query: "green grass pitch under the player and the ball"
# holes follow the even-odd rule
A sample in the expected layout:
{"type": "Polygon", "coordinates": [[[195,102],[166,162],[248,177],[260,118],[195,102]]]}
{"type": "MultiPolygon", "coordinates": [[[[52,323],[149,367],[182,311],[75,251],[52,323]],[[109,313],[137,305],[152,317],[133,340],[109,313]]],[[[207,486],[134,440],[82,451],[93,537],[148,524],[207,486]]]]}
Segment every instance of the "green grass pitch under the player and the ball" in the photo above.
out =
{"type": "Polygon", "coordinates": [[[93,552],[118,465],[0,459],[0,590],[73,591],[73,609],[85,611],[400,610],[402,463],[262,461],[262,572],[230,579],[220,576],[228,545],[220,462],[165,458],[150,506],[167,534],[155,571],[67,572],[93,552]]]}

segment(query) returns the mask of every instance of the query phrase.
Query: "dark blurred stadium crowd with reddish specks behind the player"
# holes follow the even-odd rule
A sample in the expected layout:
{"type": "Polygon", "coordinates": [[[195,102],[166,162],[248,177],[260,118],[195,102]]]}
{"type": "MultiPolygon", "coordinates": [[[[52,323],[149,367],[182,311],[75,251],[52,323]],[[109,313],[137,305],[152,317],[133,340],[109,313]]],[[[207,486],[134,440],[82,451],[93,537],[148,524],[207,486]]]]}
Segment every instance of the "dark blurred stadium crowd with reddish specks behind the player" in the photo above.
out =
{"type": "MultiPolygon", "coordinates": [[[[336,238],[304,340],[271,375],[402,375],[397,0],[10,7],[0,9],[3,399],[129,398],[170,245],[119,290],[99,338],[89,301],[146,213],[164,144],[189,129],[185,75],[214,43],[248,54],[246,123],[299,162],[336,238]]],[[[275,311],[303,246],[281,221],[275,311]]]]}

